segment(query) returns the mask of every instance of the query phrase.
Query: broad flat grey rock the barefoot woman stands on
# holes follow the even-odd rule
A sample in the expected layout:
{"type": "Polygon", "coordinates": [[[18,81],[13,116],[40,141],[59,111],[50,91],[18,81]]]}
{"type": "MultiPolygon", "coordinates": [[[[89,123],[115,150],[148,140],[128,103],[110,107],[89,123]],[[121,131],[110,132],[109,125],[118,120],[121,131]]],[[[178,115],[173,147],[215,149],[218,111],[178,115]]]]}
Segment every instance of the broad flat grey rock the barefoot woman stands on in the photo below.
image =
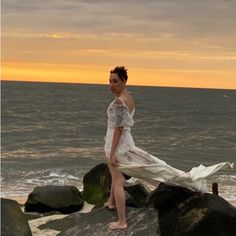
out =
{"type": "Polygon", "coordinates": [[[154,208],[126,209],[128,228],[111,231],[108,224],[117,220],[117,212],[106,208],[98,208],[90,213],[73,213],[63,219],[54,220],[39,226],[41,230],[60,231],[58,236],[105,236],[135,235],[158,236],[158,213],[154,208]]]}

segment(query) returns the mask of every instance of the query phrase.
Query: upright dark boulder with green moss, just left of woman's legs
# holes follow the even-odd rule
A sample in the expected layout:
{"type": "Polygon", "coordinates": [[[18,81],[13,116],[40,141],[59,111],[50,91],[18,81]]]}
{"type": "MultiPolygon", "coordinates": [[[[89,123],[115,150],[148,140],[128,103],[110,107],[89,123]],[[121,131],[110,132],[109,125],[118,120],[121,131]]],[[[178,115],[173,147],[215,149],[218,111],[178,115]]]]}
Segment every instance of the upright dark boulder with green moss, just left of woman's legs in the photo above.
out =
{"type": "Polygon", "coordinates": [[[95,166],[83,178],[83,198],[90,204],[103,206],[110,195],[111,175],[107,164],[95,166]]]}

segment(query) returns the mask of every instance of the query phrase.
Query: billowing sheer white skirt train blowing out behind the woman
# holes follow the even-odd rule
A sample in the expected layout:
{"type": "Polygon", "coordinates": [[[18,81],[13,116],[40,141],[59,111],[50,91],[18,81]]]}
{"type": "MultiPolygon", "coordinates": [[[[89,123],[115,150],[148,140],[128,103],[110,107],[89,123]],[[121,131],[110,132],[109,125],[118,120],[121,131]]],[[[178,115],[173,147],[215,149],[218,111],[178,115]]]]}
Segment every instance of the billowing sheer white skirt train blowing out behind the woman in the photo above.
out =
{"type": "Polygon", "coordinates": [[[233,163],[221,162],[208,167],[199,165],[189,172],[184,172],[138,147],[117,155],[116,159],[119,163],[117,168],[121,172],[134,177],[127,181],[128,184],[131,181],[142,183],[148,190],[153,190],[160,182],[164,182],[169,185],[183,186],[194,191],[208,192],[207,177],[220,169],[233,168],[233,163]]]}

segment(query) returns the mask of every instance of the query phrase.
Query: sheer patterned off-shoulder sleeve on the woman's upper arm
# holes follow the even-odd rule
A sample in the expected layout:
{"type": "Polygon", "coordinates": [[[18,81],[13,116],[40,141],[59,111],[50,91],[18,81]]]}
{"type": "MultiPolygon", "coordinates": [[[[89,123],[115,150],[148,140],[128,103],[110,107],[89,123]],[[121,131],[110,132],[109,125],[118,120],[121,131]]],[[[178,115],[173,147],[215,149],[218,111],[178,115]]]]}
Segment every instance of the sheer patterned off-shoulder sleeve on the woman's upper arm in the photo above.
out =
{"type": "Polygon", "coordinates": [[[127,127],[133,125],[133,119],[129,115],[129,109],[123,104],[116,104],[115,127],[127,127]]]}

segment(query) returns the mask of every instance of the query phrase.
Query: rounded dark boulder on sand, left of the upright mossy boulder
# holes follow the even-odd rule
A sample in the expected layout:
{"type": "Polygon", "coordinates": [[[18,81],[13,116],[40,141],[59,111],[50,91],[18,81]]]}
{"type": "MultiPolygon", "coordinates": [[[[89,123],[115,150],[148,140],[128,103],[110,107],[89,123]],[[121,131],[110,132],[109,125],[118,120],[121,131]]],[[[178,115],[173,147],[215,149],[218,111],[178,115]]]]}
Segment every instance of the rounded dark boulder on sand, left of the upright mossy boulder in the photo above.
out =
{"type": "Polygon", "coordinates": [[[25,203],[25,211],[70,214],[81,210],[83,205],[84,200],[76,187],[47,185],[34,188],[25,203]]]}

